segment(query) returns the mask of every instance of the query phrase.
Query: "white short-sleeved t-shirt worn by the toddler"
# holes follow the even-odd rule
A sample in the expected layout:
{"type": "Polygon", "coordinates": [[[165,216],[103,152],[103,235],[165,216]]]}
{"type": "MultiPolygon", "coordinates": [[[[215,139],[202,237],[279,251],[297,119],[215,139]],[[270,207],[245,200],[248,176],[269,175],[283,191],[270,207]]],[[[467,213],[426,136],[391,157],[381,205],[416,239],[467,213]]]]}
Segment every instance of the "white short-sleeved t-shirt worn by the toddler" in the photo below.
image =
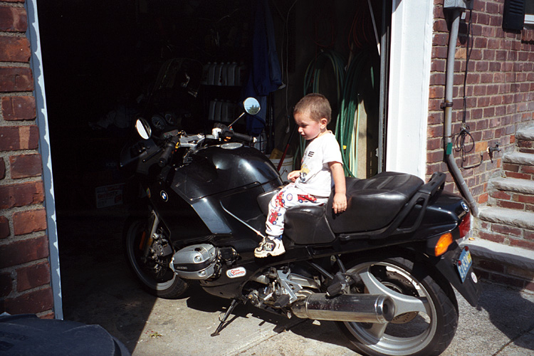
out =
{"type": "Polygon", "coordinates": [[[330,197],[333,182],[329,162],[342,164],[340,145],[331,131],[308,143],[300,165],[300,177],[295,181],[295,186],[317,197],[330,197]]]}

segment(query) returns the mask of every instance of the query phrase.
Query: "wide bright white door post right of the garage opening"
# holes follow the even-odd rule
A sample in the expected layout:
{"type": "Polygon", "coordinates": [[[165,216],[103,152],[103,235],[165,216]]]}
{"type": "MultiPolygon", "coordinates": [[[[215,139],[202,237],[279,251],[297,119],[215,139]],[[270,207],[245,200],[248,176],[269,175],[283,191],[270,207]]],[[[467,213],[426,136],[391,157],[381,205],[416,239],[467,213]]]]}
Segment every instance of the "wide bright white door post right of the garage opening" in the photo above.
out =
{"type": "Polygon", "coordinates": [[[424,179],[434,3],[392,2],[386,170],[424,179]]]}

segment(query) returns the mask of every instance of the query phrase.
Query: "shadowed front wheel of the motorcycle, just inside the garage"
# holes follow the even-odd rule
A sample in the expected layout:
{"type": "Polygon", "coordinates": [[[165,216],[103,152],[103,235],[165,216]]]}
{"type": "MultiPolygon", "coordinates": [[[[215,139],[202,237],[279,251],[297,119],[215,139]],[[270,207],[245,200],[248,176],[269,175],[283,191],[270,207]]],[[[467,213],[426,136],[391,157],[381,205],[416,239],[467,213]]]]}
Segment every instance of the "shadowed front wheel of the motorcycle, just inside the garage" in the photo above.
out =
{"type": "Polygon", "coordinates": [[[187,283],[169,268],[169,261],[153,261],[142,256],[146,230],[147,219],[128,219],[125,224],[125,253],[130,268],[150,293],[160,298],[179,298],[187,290],[187,283]]]}

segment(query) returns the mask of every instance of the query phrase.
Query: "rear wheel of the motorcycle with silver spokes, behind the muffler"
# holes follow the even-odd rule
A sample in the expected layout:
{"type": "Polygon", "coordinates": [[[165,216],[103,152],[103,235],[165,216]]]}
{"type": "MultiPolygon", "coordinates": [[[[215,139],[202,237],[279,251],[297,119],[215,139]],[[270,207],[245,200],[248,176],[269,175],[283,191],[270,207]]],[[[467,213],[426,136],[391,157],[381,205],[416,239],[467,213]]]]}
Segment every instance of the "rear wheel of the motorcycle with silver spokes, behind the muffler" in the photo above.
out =
{"type": "Polygon", "coordinates": [[[458,305],[450,284],[406,258],[367,258],[347,273],[361,278],[359,292],[386,294],[396,305],[386,324],[337,322],[352,345],[371,356],[440,355],[458,325],[458,305]]]}

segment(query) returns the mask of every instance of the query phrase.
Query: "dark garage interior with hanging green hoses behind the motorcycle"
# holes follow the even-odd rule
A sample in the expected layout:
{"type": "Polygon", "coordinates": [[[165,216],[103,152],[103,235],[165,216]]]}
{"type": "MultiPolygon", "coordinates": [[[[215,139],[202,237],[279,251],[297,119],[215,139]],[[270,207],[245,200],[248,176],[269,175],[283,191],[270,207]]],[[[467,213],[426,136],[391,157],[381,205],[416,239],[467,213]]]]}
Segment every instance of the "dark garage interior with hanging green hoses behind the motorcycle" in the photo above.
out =
{"type": "Polygon", "coordinates": [[[264,99],[263,130],[251,118],[234,130],[259,133],[256,147],[271,157],[289,147],[299,162],[300,137],[288,142],[293,106],[305,93],[323,93],[347,174],[381,172],[391,12],[386,0],[38,0],[66,318],[69,297],[82,293],[66,280],[80,256],[104,263],[119,253],[122,261],[127,177],[118,159],[136,135],[135,118],[188,133],[233,121],[250,96],[261,19],[273,24],[282,84],[264,99]],[[210,78],[210,68],[226,78],[210,78]],[[108,194],[99,196],[103,189],[108,194]]]}

